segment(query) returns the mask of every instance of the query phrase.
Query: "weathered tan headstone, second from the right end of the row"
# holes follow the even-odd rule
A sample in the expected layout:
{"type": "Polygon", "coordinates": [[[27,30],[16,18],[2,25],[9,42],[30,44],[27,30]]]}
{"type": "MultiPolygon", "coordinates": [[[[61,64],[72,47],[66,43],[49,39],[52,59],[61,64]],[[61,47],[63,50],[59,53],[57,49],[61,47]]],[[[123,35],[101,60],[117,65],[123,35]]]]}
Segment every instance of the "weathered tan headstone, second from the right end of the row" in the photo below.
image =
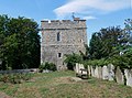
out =
{"type": "Polygon", "coordinates": [[[123,74],[119,67],[117,67],[116,79],[118,84],[124,84],[123,74]]]}

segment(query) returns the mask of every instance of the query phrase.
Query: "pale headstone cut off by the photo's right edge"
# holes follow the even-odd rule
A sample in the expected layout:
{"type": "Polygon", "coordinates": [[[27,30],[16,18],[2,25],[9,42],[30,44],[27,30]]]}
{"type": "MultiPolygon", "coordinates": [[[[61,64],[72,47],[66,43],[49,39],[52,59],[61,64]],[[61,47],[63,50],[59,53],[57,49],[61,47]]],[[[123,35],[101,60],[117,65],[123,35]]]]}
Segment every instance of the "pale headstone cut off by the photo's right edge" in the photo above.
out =
{"type": "Polygon", "coordinates": [[[124,69],[124,75],[127,77],[127,86],[132,87],[132,69],[124,69]]]}

